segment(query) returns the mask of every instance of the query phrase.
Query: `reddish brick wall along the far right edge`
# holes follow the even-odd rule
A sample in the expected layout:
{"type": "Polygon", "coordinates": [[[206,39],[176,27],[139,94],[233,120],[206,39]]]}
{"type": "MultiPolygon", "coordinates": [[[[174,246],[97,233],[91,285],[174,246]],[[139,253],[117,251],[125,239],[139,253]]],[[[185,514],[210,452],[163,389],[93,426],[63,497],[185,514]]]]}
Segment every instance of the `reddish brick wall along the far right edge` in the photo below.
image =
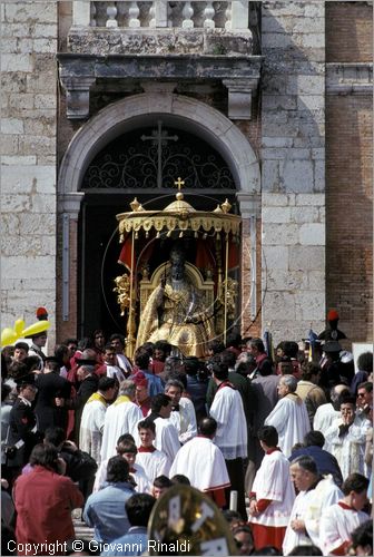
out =
{"type": "MultiPolygon", "coordinates": [[[[326,61],[373,60],[373,6],[328,2],[326,61]]],[[[352,74],[352,70],[351,70],[352,74]]],[[[354,75],[354,74],[353,74],[354,75]]],[[[328,92],[328,91],[327,91],[328,92]]],[[[326,96],[326,300],[352,341],[373,340],[373,96],[326,96]]]]}

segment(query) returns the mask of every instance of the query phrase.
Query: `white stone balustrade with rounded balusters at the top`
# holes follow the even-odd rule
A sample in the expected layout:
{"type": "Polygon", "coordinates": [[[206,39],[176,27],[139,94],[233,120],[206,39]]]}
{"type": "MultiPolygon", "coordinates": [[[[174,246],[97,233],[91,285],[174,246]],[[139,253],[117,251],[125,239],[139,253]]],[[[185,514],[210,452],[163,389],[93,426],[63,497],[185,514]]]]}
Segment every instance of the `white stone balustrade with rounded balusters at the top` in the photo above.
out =
{"type": "Polygon", "coordinates": [[[130,0],[88,1],[75,0],[72,25],[78,27],[121,29],[179,28],[223,29],[243,31],[248,29],[249,0],[207,2],[197,0],[130,0]]]}

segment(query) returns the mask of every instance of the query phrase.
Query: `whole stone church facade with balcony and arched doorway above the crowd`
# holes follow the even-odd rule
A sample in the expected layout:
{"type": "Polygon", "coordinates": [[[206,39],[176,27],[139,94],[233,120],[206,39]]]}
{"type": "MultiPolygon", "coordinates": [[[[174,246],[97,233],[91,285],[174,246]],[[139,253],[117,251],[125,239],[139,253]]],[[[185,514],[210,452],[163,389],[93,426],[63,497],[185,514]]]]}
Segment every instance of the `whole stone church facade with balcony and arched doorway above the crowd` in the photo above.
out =
{"type": "Polygon", "coordinates": [[[2,2],[3,325],[45,305],[51,344],[125,326],[116,214],[175,187],[104,165],[174,134],[179,162],[229,176],[185,194],[242,216],[242,333],[298,340],[336,307],[371,341],[372,19],[366,1],[2,2]]]}

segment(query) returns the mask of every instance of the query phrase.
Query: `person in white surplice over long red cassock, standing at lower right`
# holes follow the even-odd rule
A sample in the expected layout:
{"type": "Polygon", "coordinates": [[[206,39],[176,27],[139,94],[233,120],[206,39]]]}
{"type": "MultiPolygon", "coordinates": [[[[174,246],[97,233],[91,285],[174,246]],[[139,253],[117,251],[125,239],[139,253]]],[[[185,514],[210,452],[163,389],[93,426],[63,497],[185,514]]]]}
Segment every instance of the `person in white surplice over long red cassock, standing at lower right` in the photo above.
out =
{"type": "Polygon", "coordinates": [[[277,430],[265,426],[258,431],[258,439],[265,457],[249,494],[249,522],[255,549],[274,546],[280,550],[295,500],[295,488],[291,481],[288,459],[277,447],[277,430]]]}

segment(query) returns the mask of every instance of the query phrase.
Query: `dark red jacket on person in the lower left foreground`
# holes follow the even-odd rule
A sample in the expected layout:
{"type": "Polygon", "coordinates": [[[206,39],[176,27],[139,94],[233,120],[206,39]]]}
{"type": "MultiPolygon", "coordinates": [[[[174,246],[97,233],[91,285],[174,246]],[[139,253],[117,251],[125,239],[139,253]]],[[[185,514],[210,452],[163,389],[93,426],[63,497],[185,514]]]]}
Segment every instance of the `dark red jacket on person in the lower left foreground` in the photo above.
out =
{"type": "Polygon", "coordinates": [[[33,555],[47,555],[41,544],[75,538],[71,510],[82,507],[85,499],[70,478],[36,466],[27,476],[17,478],[13,497],[17,541],[36,544],[33,555]]]}

